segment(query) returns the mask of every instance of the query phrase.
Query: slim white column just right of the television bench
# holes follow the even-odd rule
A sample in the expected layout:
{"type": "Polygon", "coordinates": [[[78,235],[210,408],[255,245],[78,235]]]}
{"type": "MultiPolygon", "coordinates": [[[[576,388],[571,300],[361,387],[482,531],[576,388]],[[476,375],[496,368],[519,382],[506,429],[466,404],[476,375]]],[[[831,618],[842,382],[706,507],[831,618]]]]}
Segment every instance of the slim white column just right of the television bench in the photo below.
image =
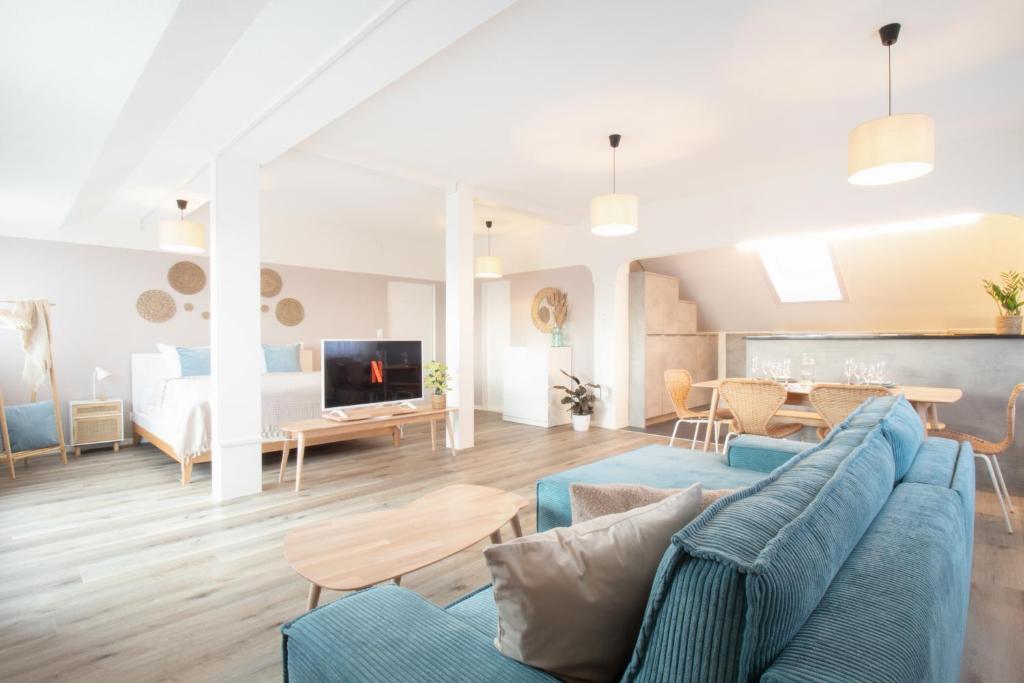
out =
{"type": "Polygon", "coordinates": [[[473,188],[459,183],[445,199],[444,361],[453,376],[455,443],[473,447],[473,188]]]}

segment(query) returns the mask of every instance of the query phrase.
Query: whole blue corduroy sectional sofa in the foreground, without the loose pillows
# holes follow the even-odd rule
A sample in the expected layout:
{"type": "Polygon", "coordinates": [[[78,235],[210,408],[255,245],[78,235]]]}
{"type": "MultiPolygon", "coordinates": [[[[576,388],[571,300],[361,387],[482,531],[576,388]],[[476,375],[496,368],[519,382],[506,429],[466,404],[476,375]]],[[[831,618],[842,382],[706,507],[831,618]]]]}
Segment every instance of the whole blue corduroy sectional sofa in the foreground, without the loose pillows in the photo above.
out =
{"type": "MultiPolygon", "coordinates": [[[[809,447],[737,439],[726,461],[648,446],[546,477],[541,530],[568,523],[573,481],[741,487],[673,537],[623,681],[956,680],[973,454],[926,438],[901,397],[809,447]]],[[[374,588],[283,627],[285,680],[554,680],[499,653],[496,630],[489,588],[445,608],[374,588]]]]}

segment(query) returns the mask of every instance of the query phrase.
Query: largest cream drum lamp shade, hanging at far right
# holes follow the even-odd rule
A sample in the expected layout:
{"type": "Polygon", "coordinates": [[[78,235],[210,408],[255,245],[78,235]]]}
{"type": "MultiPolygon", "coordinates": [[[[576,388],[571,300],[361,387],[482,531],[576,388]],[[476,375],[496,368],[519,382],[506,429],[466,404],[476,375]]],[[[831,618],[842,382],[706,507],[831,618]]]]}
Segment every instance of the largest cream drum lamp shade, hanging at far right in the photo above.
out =
{"type": "Polygon", "coordinates": [[[935,122],[925,114],[896,114],[850,131],[850,182],[889,185],[919,178],[935,167],[935,122]]]}

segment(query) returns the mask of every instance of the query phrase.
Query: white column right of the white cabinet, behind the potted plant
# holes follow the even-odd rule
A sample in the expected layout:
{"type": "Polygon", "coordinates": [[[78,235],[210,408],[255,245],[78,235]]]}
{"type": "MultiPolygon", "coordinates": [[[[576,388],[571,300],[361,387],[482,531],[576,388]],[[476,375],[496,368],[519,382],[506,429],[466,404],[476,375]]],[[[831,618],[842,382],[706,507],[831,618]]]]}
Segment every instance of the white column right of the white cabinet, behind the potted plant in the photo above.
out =
{"type": "Polygon", "coordinates": [[[630,266],[595,267],[594,382],[601,385],[595,405],[598,425],[622,429],[629,411],[630,266]]]}

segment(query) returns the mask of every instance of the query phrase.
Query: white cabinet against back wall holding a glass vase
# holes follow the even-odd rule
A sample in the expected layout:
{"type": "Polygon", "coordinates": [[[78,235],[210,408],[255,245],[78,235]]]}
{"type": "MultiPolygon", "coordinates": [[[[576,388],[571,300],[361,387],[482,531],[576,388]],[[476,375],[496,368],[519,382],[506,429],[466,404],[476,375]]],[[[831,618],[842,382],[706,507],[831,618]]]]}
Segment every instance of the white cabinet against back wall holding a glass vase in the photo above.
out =
{"type": "Polygon", "coordinates": [[[559,402],[564,394],[551,388],[568,384],[562,370],[572,372],[572,349],[567,346],[507,347],[502,417],[535,427],[568,424],[568,411],[559,402]]]}

